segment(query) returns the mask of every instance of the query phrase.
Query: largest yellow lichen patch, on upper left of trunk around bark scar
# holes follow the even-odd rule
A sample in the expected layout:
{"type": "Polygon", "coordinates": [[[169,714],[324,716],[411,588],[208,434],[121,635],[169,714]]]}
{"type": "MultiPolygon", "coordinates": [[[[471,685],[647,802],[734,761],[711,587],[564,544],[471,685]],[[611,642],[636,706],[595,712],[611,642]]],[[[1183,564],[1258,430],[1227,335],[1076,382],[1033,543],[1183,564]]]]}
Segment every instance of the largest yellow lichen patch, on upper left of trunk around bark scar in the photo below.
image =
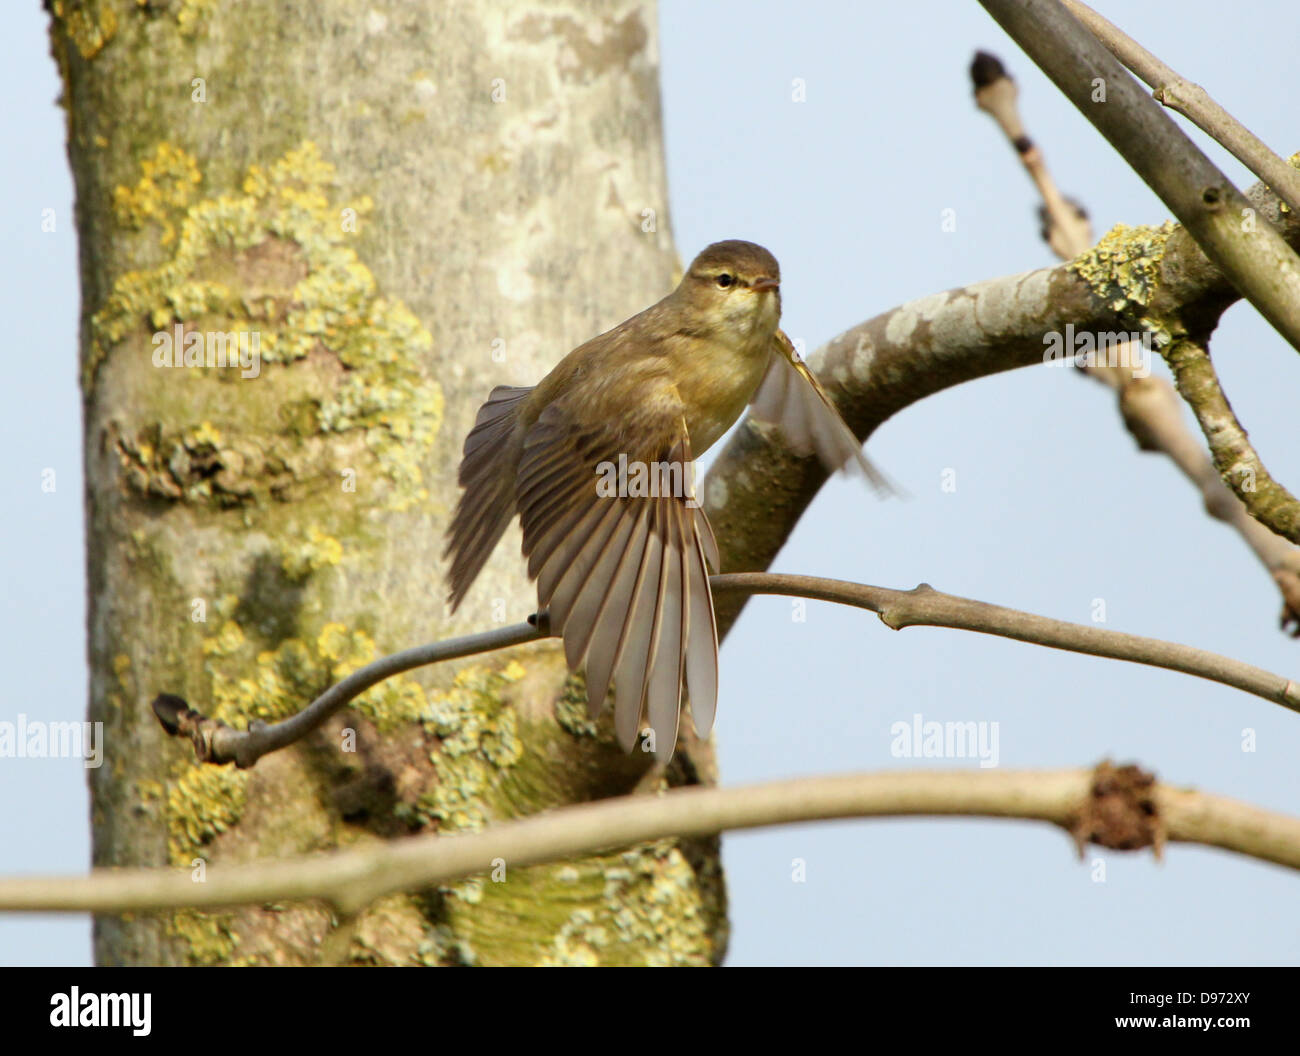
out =
{"type": "MultiPolygon", "coordinates": [[[[359,458],[380,469],[354,477],[377,492],[364,508],[428,498],[421,467],[443,415],[428,369],[433,339],[347,244],[334,181],[304,143],[251,165],[239,191],[200,198],[196,159],[161,143],[135,185],[114,192],[122,228],[155,239],[133,257],[160,259],[118,276],[91,316],[82,384],[95,385],[110,354],[151,360],[138,375],[139,425],[120,437],[133,488],[247,508],[302,497],[359,458]],[[252,388],[268,373],[273,388],[252,388]],[[164,425],[178,386],[195,385],[214,386],[188,398],[207,411],[207,429],[164,425]],[[151,436],[138,442],[140,433],[151,436]],[[195,441],[198,463],[186,454],[195,441]]],[[[348,204],[372,207],[365,195],[348,204]]]]}

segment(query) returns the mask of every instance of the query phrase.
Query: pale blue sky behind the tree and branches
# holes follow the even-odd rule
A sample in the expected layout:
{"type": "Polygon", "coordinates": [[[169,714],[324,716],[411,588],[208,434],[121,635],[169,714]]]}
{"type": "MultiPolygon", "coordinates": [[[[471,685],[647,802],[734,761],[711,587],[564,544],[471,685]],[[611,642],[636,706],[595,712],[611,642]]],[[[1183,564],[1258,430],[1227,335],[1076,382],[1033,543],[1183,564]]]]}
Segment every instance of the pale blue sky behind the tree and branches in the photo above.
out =
{"type": "MultiPolygon", "coordinates": [[[[1282,0],[1239,8],[1096,7],[1199,81],[1280,153],[1295,135],[1294,42],[1282,0]],[[1268,33],[1254,27],[1269,26],[1268,33]]],[[[35,3],[9,5],[0,107],[0,719],[83,715],[84,557],[78,313],[64,117],[35,3]],[[40,229],[55,208],[55,233],[40,229]],[[42,471],[57,471],[53,493],[42,471]]],[[[809,349],[906,299],[1053,263],[1034,189],[970,98],[976,48],[1020,85],[1030,134],[1100,235],[1167,209],[975,3],[914,0],[660,8],[670,222],[682,257],[748,238],[781,261],[785,329],[809,349]],[[801,78],[806,100],[792,99],[801,78]],[[945,209],[956,230],[945,231],[945,209]]],[[[1239,186],[1252,177],[1206,151],[1239,186]]],[[[566,350],[556,350],[556,359],[566,350]]],[[[1248,306],[1213,354],[1271,472],[1300,484],[1300,358],[1248,306]]],[[[1157,364],[1157,371],[1164,371],[1157,364]]],[[[854,480],[819,495],[775,568],[952,593],[1213,649],[1295,672],[1273,584],[1161,458],[1139,454],[1113,399],[1072,371],[1023,369],[931,397],[871,438],[910,494],[854,480]],[[944,490],[945,472],[956,492],[944,490]]],[[[1162,779],[1295,813],[1300,718],[1166,671],[957,631],[892,632],[875,616],[757,598],[722,654],[723,782],[927,766],[890,753],[897,722],[997,723],[1002,767],[1136,759],[1162,779]],[[1243,750],[1243,731],[1256,750],[1243,750]]],[[[84,771],[0,759],[0,874],[88,864],[84,771]]],[[[1226,853],[1089,849],[1045,826],[833,822],[728,836],[729,964],[1295,964],[1296,878],[1226,853]],[[793,878],[792,862],[805,877],[793,878]],[[1098,880],[1093,866],[1105,866],[1098,880]]],[[[88,964],[86,918],[0,918],[0,964],[88,964]]]]}

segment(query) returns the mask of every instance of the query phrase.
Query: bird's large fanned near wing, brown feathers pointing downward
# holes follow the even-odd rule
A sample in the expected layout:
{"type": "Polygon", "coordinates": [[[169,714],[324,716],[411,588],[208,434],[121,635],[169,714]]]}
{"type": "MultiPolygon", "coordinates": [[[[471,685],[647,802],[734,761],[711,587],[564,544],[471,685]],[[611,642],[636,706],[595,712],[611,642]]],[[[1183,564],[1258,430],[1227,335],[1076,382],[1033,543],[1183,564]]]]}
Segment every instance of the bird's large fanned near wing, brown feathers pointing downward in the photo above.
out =
{"type": "Polygon", "coordinates": [[[569,667],[586,663],[592,715],[612,685],[624,750],[647,714],[667,758],[682,687],[701,735],[718,702],[708,590],[718,546],[693,502],[681,401],[660,381],[646,388],[634,421],[578,429],[576,420],[562,397],[524,437],[516,501],[528,571],[569,667]]]}

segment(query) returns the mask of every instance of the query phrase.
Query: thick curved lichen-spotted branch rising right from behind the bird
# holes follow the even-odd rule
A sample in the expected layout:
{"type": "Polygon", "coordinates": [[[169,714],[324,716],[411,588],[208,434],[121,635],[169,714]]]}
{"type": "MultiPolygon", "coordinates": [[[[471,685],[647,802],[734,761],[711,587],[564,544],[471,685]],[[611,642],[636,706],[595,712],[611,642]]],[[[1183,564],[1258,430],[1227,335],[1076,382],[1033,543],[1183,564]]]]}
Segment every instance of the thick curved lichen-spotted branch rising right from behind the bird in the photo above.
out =
{"type": "MultiPolygon", "coordinates": [[[[1248,198],[1264,222],[1300,244],[1300,213],[1283,212],[1268,187],[1248,198]]],[[[1239,294],[1176,226],[1115,228],[1057,268],[987,280],[901,304],[846,330],[809,363],[845,421],[866,438],[919,399],[963,381],[1040,364],[1043,336],[1135,329],[1147,316],[1184,315],[1205,325],[1239,294]]],[[[766,568],[826,482],[815,458],[792,455],[779,433],[746,419],[701,488],[724,568],[766,568]]],[[[719,598],[718,629],[731,628],[745,596],[719,598]]]]}

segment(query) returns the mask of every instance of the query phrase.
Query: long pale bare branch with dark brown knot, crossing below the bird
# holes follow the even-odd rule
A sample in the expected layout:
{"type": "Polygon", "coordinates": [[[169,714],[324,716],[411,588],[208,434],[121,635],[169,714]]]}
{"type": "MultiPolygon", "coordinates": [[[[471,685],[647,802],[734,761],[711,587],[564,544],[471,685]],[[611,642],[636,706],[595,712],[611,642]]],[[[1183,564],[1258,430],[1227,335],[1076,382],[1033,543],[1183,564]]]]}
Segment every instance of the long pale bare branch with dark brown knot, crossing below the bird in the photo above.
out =
{"type": "MultiPolygon", "coordinates": [[[[1135,766],[1095,770],[919,770],[805,778],[741,788],[677,788],[568,806],[455,836],[419,836],[329,854],[187,870],[99,869],[0,879],[0,912],[148,913],[183,906],[322,900],[352,916],[376,899],[668,836],[827,818],[985,817],[1049,822],[1076,844],[1117,849],[1200,843],[1300,869],[1300,818],[1154,783],[1135,766]]],[[[507,879],[510,874],[507,871],[507,879]]]]}

